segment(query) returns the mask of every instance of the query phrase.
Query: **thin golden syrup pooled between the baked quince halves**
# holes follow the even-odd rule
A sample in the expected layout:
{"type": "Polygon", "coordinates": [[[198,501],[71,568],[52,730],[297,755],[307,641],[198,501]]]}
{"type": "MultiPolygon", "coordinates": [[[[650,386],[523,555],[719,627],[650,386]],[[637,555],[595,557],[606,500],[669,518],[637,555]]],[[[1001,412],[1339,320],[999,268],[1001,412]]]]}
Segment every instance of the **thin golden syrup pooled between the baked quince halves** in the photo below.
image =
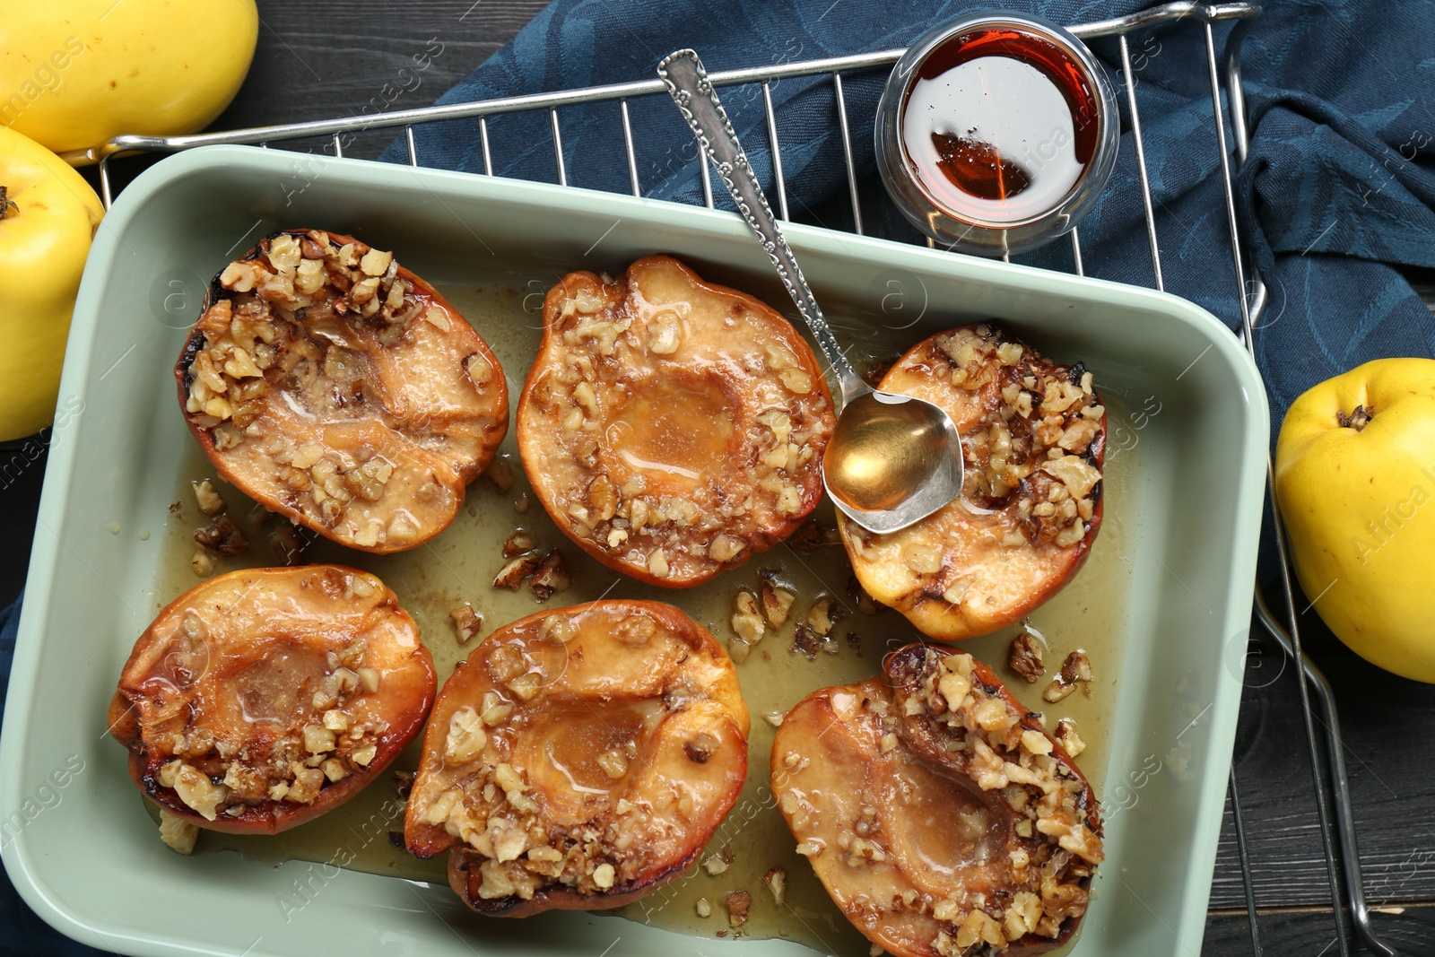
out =
{"type": "MultiPolygon", "coordinates": [[[[614,263],[611,268],[618,270],[621,265],[614,263]]],[[[422,265],[419,274],[433,281],[481,330],[509,376],[509,399],[517,403],[521,376],[538,349],[537,321],[524,313],[522,298],[535,288],[532,283],[541,283],[547,288],[561,271],[515,274],[478,271],[472,264],[458,264],[449,267],[446,278],[441,263],[436,267],[422,265]]],[[[858,308],[852,310],[854,316],[858,313],[858,308]]],[[[860,369],[888,364],[904,349],[904,343],[895,343],[893,333],[881,329],[874,317],[861,324],[842,324],[839,331],[851,343],[850,354],[860,369]]],[[[1126,410],[1121,397],[1104,397],[1111,420],[1125,420],[1126,410]]],[[[184,429],[178,409],[172,415],[169,428],[184,429]]],[[[1030,616],[1032,626],[1045,636],[1048,677],[1038,684],[1027,684],[1006,666],[1007,650],[1019,631],[1016,627],[960,644],[963,651],[990,664],[1027,707],[1042,712],[1048,727],[1055,727],[1062,717],[1075,719],[1086,742],[1086,750],[1076,763],[1098,796],[1104,793],[1111,756],[1109,722],[1128,640],[1134,601],[1132,568],[1134,562],[1142,561],[1144,554],[1125,525],[1114,521],[1114,517],[1119,517],[1119,509],[1129,506],[1137,498],[1137,475],[1141,472],[1138,462],[1145,449],[1147,443],[1142,442],[1108,463],[1104,473],[1108,521],[1102,525],[1091,558],[1068,588],[1030,616]],[[1095,673],[1092,693],[1073,693],[1059,704],[1042,700],[1046,680],[1075,649],[1085,650],[1091,659],[1095,673]]],[[[419,626],[419,634],[433,656],[439,682],[494,628],[541,608],[561,608],[601,597],[673,604],[726,646],[733,638],[730,620],[736,593],[759,587],[761,570],[775,570],[776,580],[796,594],[796,601],[788,621],[781,628],[769,628],[746,660],[736,666],[743,700],[752,715],[748,781],[738,802],[686,871],[624,908],[594,914],[593,921],[613,925],[611,931],[604,927],[604,941],[621,935],[623,921],[627,920],[709,940],[778,938],[804,944],[818,954],[865,957],[870,947],[867,938],[832,904],[806,858],[796,854],[796,842],[776,806],[769,783],[772,737],[776,730],[773,722],[781,720],[794,704],[819,687],[871,677],[881,669],[887,651],[918,641],[921,634],[897,611],[861,611],[848,591],[852,571],[839,544],[825,544],[811,551],[779,544],[696,588],[659,588],[627,578],[573,545],[548,518],[524,476],[512,429],[499,448],[498,461],[502,466],[497,473],[491,472],[469,485],[458,518],[426,545],[392,555],[373,555],[306,532],[303,538],[311,544],[303,560],[353,565],[379,575],[419,626]],[[558,548],[563,552],[573,577],[568,590],[538,603],[527,587],[518,591],[492,587],[495,572],[505,562],[501,547],[517,529],[527,531],[540,548],[558,548]],[[824,597],[832,598],[841,617],[827,643],[815,651],[804,653],[795,649],[794,628],[806,620],[812,604],[824,597]],[[482,630],[466,644],[458,641],[449,617],[462,603],[472,604],[484,616],[482,630]],[[715,857],[722,865],[707,864],[715,857]],[[784,871],[782,902],[778,902],[763,882],[763,877],[773,869],[784,871]],[[728,894],[735,891],[748,891],[752,898],[749,917],[739,927],[732,925],[726,907],[728,894]],[[700,908],[699,901],[706,901],[706,908],[700,908]],[[706,917],[700,915],[702,910],[707,911],[706,917]]],[[[199,581],[189,565],[195,551],[191,535],[208,518],[195,505],[189,488],[194,479],[214,481],[228,504],[228,514],[251,542],[247,554],[220,560],[215,574],[277,564],[267,542],[268,531],[277,522],[265,519],[263,524],[251,524],[248,517],[253,502],[217,479],[214,466],[197,445],[191,443],[188,453],[177,463],[175,478],[172,501],[179,508],[172,514],[144,517],[164,529],[158,535],[164,561],[155,583],[155,613],[199,581]]],[[[831,504],[822,502],[814,517],[824,529],[834,528],[831,504]]],[[[263,518],[263,512],[257,518],[263,518]]],[[[115,667],[118,670],[118,661],[115,667]]],[[[116,765],[123,762],[121,750],[119,746],[113,748],[116,765]]],[[[563,755],[555,755],[555,759],[567,766],[563,755]]],[[[419,742],[415,742],[392,768],[412,772],[418,760],[419,742]]],[[[116,798],[115,814],[138,814],[141,798],[133,789],[116,798]]],[[[144,803],[156,816],[154,805],[148,801],[144,803]]],[[[274,885],[274,907],[286,918],[304,908],[316,894],[334,892],[324,888],[342,868],[395,878],[395,907],[423,907],[415,900],[415,888],[406,881],[429,885],[432,890],[423,892],[435,897],[428,900],[446,901],[452,897],[453,910],[442,910],[441,905],[443,917],[435,915],[433,920],[448,923],[453,933],[465,941],[472,940],[475,946],[481,940],[489,946],[501,940],[512,941],[517,948],[519,938],[542,938],[551,920],[547,914],[522,921],[501,921],[459,913],[462,905],[448,890],[448,855],[422,861],[400,847],[403,812],[403,792],[395,786],[393,775],[386,772],[344,805],[274,836],[204,831],[195,854],[240,855],[247,861],[276,867],[287,864],[274,885]]],[[[159,841],[158,831],[155,841],[159,841]]],[[[1098,891],[1101,874],[1098,868],[1093,884],[1098,891]]],[[[695,946],[706,951],[700,944],[674,940],[674,947],[682,953],[693,951],[695,946]]],[[[1053,957],[1073,946],[1075,941],[1065,944],[1053,957]]]]}

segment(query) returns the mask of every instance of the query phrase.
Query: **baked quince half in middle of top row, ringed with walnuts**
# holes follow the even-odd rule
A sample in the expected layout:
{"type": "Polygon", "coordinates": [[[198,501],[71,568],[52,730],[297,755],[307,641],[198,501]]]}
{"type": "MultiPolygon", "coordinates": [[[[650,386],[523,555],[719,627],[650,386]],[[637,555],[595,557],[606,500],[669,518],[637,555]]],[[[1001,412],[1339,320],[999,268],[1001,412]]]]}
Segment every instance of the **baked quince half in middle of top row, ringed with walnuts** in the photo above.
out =
{"type": "Polygon", "coordinates": [[[822,496],[832,396],[781,314],[666,255],[570,273],[518,403],[544,508],[590,555],[687,588],[792,534],[822,496]]]}

